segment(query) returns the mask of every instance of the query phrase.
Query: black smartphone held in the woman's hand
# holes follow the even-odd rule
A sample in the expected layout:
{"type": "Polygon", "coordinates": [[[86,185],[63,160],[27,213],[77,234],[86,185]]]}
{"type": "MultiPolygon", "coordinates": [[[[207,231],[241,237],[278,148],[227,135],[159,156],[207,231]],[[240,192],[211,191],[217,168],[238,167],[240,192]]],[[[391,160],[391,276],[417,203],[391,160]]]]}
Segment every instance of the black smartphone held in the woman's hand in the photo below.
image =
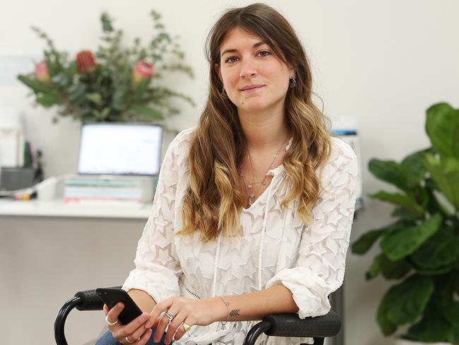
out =
{"type": "Polygon", "coordinates": [[[131,296],[124,290],[118,288],[96,288],[95,292],[109,309],[112,309],[119,302],[124,304],[123,310],[118,315],[118,319],[122,324],[129,324],[136,317],[142,315],[142,310],[138,308],[138,305],[132,300],[131,296]]]}

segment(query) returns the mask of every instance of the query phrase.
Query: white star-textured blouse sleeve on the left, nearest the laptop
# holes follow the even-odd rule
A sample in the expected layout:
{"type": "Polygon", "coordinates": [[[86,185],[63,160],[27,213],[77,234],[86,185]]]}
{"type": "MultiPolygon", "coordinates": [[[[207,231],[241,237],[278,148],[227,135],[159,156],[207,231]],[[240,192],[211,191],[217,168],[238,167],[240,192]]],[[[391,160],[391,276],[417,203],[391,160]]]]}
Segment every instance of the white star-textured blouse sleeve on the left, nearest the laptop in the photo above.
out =
{"type": "Polygon", "coordinates": [[[174,250],[174,205],[179,180],[179,144],[177,136],[167,148],[157,182],[153,208],[138,241],[133,269],[123,289],[147,292],[156,303],[179,295],[181,267],[174,250]]]}

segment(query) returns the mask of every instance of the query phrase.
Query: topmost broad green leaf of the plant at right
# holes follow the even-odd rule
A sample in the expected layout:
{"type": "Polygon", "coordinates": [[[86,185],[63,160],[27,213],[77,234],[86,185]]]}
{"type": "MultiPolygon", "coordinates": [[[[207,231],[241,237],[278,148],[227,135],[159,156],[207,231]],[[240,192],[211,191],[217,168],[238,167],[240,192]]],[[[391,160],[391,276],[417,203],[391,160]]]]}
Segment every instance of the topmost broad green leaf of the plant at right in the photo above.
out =
{"type": "Polygon", "coordinates": [[[426,131],[441,158],[459,160],[459,110],[448,103],[432,105],[427,110],[426,131]]]}

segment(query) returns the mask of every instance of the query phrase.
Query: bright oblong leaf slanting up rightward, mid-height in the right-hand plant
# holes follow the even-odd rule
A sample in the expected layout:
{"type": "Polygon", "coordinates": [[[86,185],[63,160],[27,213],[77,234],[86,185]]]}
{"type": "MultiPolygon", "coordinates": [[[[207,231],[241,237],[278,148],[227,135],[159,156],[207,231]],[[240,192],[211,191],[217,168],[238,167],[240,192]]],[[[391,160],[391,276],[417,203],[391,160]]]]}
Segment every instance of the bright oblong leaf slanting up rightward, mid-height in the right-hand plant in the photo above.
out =
{"type": "Polygon", "coordinates": [[[436,214],[419,226],[394,228],[381,240],[381,250],[393,261],[402,259],[415,252],[427,238],[434,235],[440,224],[441,216],[436,214]]]}

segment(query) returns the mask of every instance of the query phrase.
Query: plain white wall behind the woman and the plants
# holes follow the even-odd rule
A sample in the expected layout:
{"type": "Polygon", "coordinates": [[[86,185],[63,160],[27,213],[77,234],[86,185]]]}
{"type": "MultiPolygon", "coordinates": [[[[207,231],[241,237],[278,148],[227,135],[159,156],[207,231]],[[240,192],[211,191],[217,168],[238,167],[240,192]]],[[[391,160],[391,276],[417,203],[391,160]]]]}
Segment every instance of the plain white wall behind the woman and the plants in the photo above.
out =
{"type": "MultiPolygon", "coordinates": [[[[47,32],[62,50],[95,49],[100,12],[108,10],[133,37],[150,37],[151,8],[160,11],[170,33],[181,35],[187,62],[196,78],[171,80],[198,106],[185,106],[173,120],[179,128],[196,123],[207,90],[203,56],[205,35],[227,6],[251,1],[9,1],[0,12],[0,54],[37,55],[44,44],[30,25],[47,32]]],[[[314,70],[315,88],[331,117],[359,121],[363,165],[373,157],[400,160],[429,144],[425,110],[448,101],[459,107],[459,2],[406,1],[269,1],[292,22],[304,40],[314,70]]],[[[47,175],[76,170],[78,124],[51,123],[53,110],[30,106],[25,87],[0,86],[0,106],[18,107],[35,148],[44,151],[47,175]]],[[[1,114],[0,114],[1,121],[1,114]]],[[[366,193],[383,187],[366,168],[366,193]]],[[[352,240],[387,223],[390,209],[368,201],[354,223],[352,240]]],[[[348,255],[346,276],[347,344],[388,344],[375,322],[376,306],[387,283],[364,282],[370,257],[348,255]]]]}

